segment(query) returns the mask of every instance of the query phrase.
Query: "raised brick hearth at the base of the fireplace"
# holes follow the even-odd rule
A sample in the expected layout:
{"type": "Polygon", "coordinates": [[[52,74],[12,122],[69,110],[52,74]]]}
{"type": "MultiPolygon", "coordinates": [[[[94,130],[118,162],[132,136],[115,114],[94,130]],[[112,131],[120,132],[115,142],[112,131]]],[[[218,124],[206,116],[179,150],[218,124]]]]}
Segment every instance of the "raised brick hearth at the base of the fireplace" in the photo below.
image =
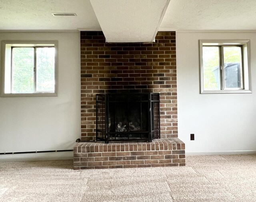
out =
{"type": "Polygon", "coordinates": [[[74,170],[185,166],[185,144],[178,138],[151,143],[81,142],[74,147],[74,170]]]}

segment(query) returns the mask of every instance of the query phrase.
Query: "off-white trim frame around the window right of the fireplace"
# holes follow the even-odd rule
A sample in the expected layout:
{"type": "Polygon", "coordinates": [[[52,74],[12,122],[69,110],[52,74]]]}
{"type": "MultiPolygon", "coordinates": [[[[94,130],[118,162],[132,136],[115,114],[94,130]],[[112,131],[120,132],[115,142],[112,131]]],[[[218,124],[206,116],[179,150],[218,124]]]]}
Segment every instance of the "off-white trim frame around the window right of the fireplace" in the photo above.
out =
{"type": "Polygon", "coordinates": [[[199,51],[200,51],[200,92],[201,94],[252,93],[250,40],[199,40],[199,51]],[[244,89],[204,90],[203,51],[202,51],[203,46],[225,46],[225,45],[242,46],[244,89]]]}

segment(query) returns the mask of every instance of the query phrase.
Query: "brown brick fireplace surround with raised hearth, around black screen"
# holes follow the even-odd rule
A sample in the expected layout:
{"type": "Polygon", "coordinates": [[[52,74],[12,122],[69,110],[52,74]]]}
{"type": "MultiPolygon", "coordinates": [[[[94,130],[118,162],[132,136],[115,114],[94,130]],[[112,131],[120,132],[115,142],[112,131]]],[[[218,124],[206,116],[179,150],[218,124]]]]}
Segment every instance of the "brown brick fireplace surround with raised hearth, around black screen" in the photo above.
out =
{"type": "Polygon", "coordinates": [[[102,32],[81,36],[81,140],[74,169],[184,166],[178,139],[176,36],[158,32],[154,43],[106,43],[102,32]],[[161,139],[151,143],[85,142],[96,139],[96,94],[160,93],[161,139]]]}

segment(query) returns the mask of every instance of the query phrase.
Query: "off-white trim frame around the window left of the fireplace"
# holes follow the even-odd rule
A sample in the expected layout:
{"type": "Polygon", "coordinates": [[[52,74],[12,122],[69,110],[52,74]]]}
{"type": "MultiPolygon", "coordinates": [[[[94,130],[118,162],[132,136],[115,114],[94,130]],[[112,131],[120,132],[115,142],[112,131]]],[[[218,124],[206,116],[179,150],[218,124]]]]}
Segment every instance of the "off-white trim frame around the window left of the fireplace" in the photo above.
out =
{"type": "MultiPolygon", "coordinates": [[[[1,65],[1,81],[0,81],[0,96],[1,97],[40,97],[40,96],[58,96],[58,41],[2,41],[2,65],[1,65]],[[54,92],[36,92],[36,93],[5,93],[5,76],[6,66],[11,66],[11,48],[18,46],[53,46],[55,48],[55,70],[54,80],[55,89],[54,92]]],[[[10,68],[8,68],[10,69],[10,68]]]]}

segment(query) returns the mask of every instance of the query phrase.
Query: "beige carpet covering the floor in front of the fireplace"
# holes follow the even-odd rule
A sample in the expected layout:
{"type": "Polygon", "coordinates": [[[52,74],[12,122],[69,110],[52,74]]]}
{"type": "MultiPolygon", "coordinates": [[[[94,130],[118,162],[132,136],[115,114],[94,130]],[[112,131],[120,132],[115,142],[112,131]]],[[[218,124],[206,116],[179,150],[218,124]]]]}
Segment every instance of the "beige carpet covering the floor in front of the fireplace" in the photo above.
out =
{"type": "Polygon", "coordinates": [[[72,170],[0,162],[1,202],[256,202],[256,155],[186,156],[185,167],[72,170]]]}

